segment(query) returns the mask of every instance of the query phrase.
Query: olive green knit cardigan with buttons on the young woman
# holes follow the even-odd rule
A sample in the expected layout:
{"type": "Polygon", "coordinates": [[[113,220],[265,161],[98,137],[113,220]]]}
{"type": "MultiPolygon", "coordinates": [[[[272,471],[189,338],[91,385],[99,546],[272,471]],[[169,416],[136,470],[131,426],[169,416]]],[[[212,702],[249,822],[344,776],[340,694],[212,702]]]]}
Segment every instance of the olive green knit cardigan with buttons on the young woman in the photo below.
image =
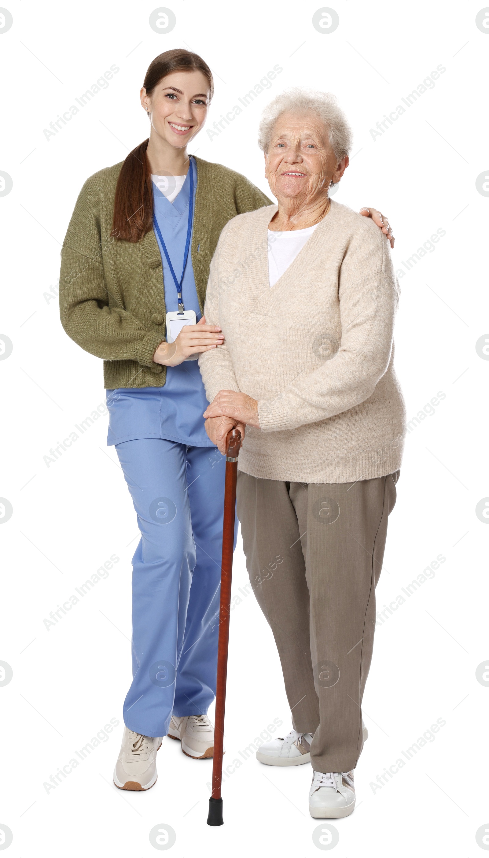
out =
{"type": "MultiPolygon", "coordinates": [[[[238,172],[196,158],[192,265],[201,311],[220,231],[236,215],[270,205],[238,172]]],[[[120,164],[87,179],[61,251],[61,323],[72,340],[104,359],[104,385],[162,386],[166,367],[153,355],[165,340],[165,287],[154,231],[136,244],[111,238],[120,164]]]]}

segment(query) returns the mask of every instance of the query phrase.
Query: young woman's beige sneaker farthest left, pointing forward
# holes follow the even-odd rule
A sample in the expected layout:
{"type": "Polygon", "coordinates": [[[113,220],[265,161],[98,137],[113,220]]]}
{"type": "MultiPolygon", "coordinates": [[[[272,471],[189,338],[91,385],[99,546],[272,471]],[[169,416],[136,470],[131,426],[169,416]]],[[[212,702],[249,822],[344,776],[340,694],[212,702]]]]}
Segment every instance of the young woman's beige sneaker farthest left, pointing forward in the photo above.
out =
{"type": "Polygon", "coordinates": [[[162,741],[162,736],[153,739],[124,727],[113,775],[118,789],[150,789],[156,783],[156,752],[162,741]]]}

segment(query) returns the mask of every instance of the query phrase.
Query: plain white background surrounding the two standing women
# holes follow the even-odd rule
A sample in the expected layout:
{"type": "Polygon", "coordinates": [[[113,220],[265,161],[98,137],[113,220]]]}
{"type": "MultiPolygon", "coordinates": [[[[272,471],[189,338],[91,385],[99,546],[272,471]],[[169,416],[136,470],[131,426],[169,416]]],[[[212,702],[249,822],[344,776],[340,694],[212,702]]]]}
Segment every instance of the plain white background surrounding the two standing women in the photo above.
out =
{"type": "MultiPolygon", "coordinates": [[[[364,698],[370,738],[355,772],[357,807],[335,820],[333,852],[477,856],[489,828],[489,658],[486,541],[475,506],[489,495],[486,390],[489,362],[475,343],[489,330],[486,250],[489,173],[486,56],[479,3],[385,4],[334,0],[340,25],[319,33],[303,3],[172,2],[171,33],[149,27],[152,3],[10,3],[0,33],[3,147],[13,180],[0,198],[3,313],[13,352],[0,362],[3,444],[0,495],[13,515],[3,540],[0,660],[1,825],[12,858],[27,855],[154,855],[154,825],[171,825],[171,854],[317,855],[318,821],[307,806],[311,767],[264,767],[254,757],[223,784],[225,825],[206,825],[211,761],[195,762],[164,740],[159,779],[147,794],[112,785],[130,684],[130,559],[136,516],[101,417],[60,457],[43,456],[105,401],[102,365],[64,334],[56,287],[59,251],[89,175],[124,160],[148,136],[139,88],[162,51],[189,46],[215,74],[208,127],[278,64],[272,88],[218,136],[190,151],[230,166],[269,192],[257,124],[282,89],[335,93],[354,130],[353,159],[335,199],[375,205],[396,237],[395,268],[441,228],[446,235],[401,279],[396,371],[414,417],[438,391],[443,402],[407,436],[389,520],[377,606],[389,604],[438,554],[446,558],[377,627],[364,698]],[[118,73],[49,140],[44,129],[112,64],[118,73]],[[441,64],[436,86],[372,139],[384,114],[441,64]],[[55,627],[43,619],[112,554],[106,580],[55,627]],[[111,718],[120,725],[56,789],[43,783],[111,718]],[[371,782],[438,718],[446,724],[381,789],[371,782]]],[[[489,336],[489,335],[488,335],[489,336]]],[[[103,410],[103,409],[101,409],[103,410]]],[[[247,581],[240,541],[234,589],[247,581]]],[[[278,718],[290,729],[281,669],[253,595],[232,613],[226,764],[278,718]]],[[[279,731],[280,734],[283,734],[279,731]]],[[[486,849],[489,848],[486,846],[486,849]]],[[[1,849],[1,847],[0,847],[1,849]]]]}

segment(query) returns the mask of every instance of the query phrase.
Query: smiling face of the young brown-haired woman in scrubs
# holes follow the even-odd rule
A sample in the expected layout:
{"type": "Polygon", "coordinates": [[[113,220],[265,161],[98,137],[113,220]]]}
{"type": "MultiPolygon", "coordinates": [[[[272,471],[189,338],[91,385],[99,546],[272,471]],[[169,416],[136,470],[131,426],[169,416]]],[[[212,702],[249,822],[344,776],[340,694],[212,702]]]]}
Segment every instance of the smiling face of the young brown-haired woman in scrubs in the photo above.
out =
{"type": "Polygon", "coordinates": [[[150,95],[143,87],[141,103],[150,114],[151,136],[184,148],[205,123],[208,94],[208,81],[201,71],[174,71],[150,95]]]}

